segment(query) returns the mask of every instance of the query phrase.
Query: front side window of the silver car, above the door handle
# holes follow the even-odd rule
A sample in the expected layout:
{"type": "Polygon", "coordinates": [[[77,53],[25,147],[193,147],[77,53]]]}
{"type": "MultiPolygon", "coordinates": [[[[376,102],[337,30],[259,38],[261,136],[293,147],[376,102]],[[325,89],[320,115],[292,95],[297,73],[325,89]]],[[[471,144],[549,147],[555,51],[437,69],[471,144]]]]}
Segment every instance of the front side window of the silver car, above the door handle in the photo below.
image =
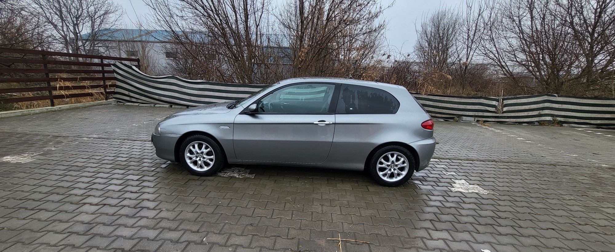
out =
{"type": "Polygon", "coordinates": [[[299,84],[278,89],[258,102],[258,112],[282,114],[326,113],[334,84],[299,84]]]}

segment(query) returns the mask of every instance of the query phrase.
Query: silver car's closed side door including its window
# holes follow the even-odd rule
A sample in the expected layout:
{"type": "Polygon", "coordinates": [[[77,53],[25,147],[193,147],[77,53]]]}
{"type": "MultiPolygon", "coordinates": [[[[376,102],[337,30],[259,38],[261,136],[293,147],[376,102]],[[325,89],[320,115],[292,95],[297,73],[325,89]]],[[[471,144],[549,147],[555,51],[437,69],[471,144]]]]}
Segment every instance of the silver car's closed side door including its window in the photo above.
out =
{"type": "Polygon", "coordinates": [[[258,112],[235,117],[238,160],[322,163],[335,129],[338,85],[304,83],[280,87],[256,101],[258,112]],[[335,97],[335,98],[333,98],[335,97]]]}

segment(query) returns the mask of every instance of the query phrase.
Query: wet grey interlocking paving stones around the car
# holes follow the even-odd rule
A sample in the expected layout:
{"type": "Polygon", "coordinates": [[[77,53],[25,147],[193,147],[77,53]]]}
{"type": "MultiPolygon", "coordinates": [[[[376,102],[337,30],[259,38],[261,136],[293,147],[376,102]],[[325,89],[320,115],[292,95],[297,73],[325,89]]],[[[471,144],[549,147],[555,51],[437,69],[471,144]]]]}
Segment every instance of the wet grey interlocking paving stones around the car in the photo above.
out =
{"type": "Polygon", "coordinates": [[[0,119],[0,250],[615,250],[614,131],[437,122],[432,165],[389,188],[338,170],[189,175],[149,143],[175,111],[0,119]]]}

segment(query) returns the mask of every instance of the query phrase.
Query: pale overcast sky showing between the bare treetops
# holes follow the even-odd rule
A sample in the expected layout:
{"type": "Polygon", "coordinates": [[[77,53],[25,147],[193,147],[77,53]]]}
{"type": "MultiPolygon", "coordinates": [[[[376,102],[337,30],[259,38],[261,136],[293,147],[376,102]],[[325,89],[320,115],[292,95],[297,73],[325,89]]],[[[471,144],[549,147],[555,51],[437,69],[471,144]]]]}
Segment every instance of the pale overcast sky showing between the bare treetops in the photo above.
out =
{"type": "MultiPolygon", "coordinates": [[[[127,27],[137,20],[146,20],[149,8],[143,0],[113,0],[124,7],[124,22],[127,27]]],[[[273,0],[284,2],[286,0],[273,0]]],[[[393,0],[382,0],[383,6],[388,6],[393,0]]],[[[464,0],[397,0],[395,4],[384,12],[384,19],[389,22],[386,33],[389,45],[398,52],[410,52],[415,44],[415,27],[419,25],[421,17],[429,14],[440,6],[459,6],[464,0]]],[[[143,22],[147,23],[147,22],[143,22]]],[[[133,27],[134,28],[134,27],[133,27]]],[[[155,28],[155,27],[145,27],[155,28]]]]}

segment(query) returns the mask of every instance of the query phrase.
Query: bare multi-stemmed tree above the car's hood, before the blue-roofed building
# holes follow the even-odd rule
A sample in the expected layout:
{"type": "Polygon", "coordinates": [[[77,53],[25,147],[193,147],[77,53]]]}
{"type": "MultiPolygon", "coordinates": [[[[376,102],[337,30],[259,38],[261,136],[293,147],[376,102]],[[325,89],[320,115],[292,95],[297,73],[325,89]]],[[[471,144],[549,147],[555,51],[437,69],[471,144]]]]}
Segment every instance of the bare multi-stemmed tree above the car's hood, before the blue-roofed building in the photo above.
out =
{"type": "Polygon", "coordinates": [[[188,77],[268,82],[268,0],[145,0],[188,77]]]}

